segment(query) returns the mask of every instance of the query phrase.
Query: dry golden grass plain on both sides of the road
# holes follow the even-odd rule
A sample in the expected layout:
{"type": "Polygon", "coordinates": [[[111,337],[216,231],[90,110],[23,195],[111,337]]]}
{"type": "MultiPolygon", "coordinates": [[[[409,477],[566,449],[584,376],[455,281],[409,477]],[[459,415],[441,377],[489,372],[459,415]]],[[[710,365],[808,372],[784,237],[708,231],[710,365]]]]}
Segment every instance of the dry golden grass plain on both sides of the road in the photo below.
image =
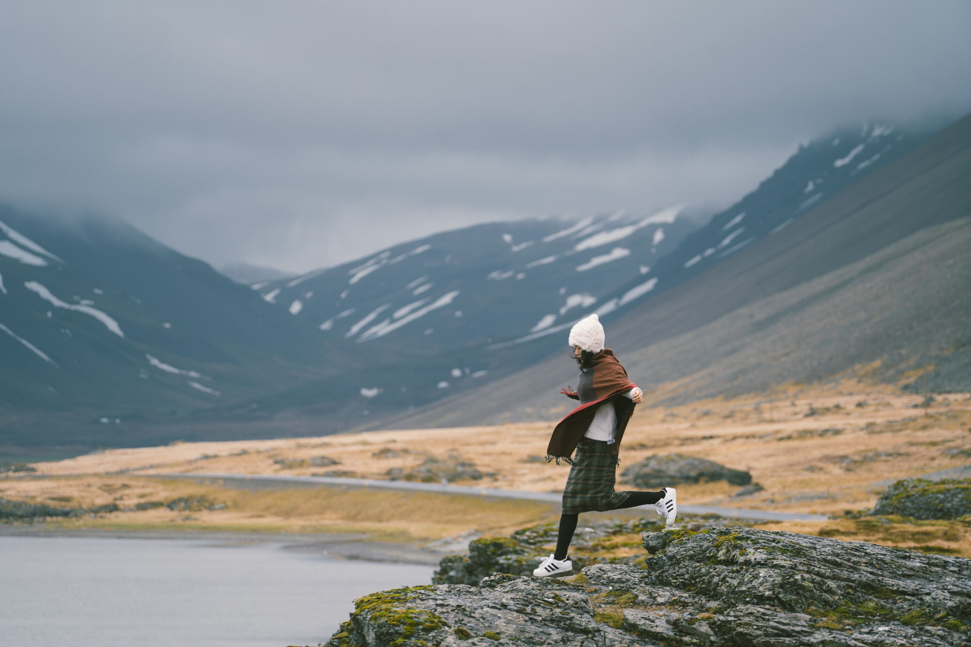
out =
{"type": "MultiPolygon", "coordinates": [[[[651,397],[648,394],[649,403],[651,397]]],[[[621,471],[649,455],[679,452],[749,470],[753,480],[765,488],[753,496],[736,498],[732,495],[738,488],[724,481],[680,485],[682,504],[843,514],[845,510],[872,506],[879,491],[894,480],[967,464],[971,455],[971,397],[936,397],[925,411],[915,408],[921,397],[848,379],[826,386],[787,385],[770,394],[680,407],[642,405],[623,439],[621,471]]],[[[386,478],[388,469],[407,471],[427,456],[452,454],[489,474],[465,484],[559,492],[569,469],[537,462],[546,452],[552,427],[552,423],[509,424],[112,449],[35,464],[37,475],[48,476],[46,479],[0,478],[0,496],[33,497],[35,501],[69,496],[82,505],[115,497],[123,497],[122,501],[162,498],[162,494],[149,494],[152,488],[162,487],[159,481],[139,475],[175,472],[307,475],[338,469],[377,479],[386,478]],[[310,465],[311,459],[324,456],[340,464],[310,465]],[[127,490],[110,491],[122,482],[129,486],[127,490]]],[[[208,492],[200,486],[166,483],[168,494],[164,497],[181,496],[177,492],[208,492]]],[[[191,520],[158,510],[151,515],[149,511],[126,513],[129,516],[120,514],[112,523],[122,523],[122,519],[136,523],[136,517],[130,516],[136,515],[139,524],[179,527],[218,523],[222,528],[354,529],[435,537],[472,528],[500,532],[536,523],[551,514],[551,508],[539,502],[472,504],[469,498],[459,498],[452,503],[450,498],[434,494],[339,489],[321,489],[317,494],[294,490],[279,495],[220,492],[221,499],[231,502],[229,510],[182,515],[195,517],[191,520]]],[[[839,524],[844,523],[833,522],[836,525],[832,528],[842,528],[839,524]]],[[[816,534],[810,527],[805,532],[816,534]]],[[[864,538],[846,535],[856,536],[864,538]]]]}

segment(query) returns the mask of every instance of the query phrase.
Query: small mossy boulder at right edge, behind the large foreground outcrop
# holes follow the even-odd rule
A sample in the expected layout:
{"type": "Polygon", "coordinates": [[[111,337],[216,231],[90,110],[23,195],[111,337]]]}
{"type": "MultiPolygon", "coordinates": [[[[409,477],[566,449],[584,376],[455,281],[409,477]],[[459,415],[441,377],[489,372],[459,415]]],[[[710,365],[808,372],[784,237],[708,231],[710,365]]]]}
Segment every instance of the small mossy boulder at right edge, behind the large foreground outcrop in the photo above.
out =
{"type": "Polygon", "coordinates": [[[915,519],[957,519],[971,514],[971,478],[897,481],[877,501],[872,515],[899,514],[915,519]]]}

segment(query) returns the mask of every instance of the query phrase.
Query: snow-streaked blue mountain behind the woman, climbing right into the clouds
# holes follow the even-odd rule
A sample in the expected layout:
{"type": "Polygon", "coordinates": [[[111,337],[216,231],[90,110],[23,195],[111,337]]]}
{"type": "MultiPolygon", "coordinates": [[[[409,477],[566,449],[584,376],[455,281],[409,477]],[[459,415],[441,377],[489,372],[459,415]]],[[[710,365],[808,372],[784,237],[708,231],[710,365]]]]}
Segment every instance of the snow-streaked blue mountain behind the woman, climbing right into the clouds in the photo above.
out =
{"type": "Polygon", "coordinates": [[[326,333],[354,340],[362,353],[377,352],[382,359],[374,362],[383,370],[369,364],[340,379],[253,401],[251,409],[236,408],[232,415],[316,415],[336,428],[374,427],[382,424],[369,423],[375,418],[454,392],[478,392],[483,382],[555,353],[563,331],[586,313],[610,320],[663,297],[785,230],[930,130],[878,124],[841,129],[800,146],[756,190],[694,232],[677,228],[681,218],[673,217],[674,209],[586,218],[570,227],[556,221],[484,225],[398,245],[333,270],[258,284],[279,307],[320,321],[326,333]]]}

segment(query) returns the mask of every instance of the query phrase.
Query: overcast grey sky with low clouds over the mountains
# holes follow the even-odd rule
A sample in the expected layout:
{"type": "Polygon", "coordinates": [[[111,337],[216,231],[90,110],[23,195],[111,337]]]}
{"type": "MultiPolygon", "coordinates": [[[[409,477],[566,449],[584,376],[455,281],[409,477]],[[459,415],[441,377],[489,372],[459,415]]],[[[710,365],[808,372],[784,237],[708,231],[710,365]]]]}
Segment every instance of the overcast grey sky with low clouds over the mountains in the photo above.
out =
{"type": "Polygon", "coordinates": [[[971,3],[0,1],[0,200],[301,272],[971,110],[971,3]]]}

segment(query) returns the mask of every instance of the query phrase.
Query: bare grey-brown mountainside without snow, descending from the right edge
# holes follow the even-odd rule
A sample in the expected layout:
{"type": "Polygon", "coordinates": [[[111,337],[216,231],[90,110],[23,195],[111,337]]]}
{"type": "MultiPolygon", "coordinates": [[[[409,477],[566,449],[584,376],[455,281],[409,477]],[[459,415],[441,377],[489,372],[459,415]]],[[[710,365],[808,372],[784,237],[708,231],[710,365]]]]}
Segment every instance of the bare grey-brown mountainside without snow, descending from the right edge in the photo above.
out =
{"type": "MultiPolygon", "coordinates": [[[[878,361],[882,368],[871,374],[879,379],[895,381],[936,362],[937,388],[967,388],[971,296],[967,230],[959,219],[971,213],[969,177],[965,116],[776,234],[608,320],[608,345],[636,382],[667,385],[669,402],[819,379],[878,361]],[[802,348],[800,331],[825,332],[827,313],[856,323],[833,329],[840,343],[802,348]]],[[[555,417],[564,406],[556,392],[576,377],[564,354],[385,426],[555,417]]]]}

